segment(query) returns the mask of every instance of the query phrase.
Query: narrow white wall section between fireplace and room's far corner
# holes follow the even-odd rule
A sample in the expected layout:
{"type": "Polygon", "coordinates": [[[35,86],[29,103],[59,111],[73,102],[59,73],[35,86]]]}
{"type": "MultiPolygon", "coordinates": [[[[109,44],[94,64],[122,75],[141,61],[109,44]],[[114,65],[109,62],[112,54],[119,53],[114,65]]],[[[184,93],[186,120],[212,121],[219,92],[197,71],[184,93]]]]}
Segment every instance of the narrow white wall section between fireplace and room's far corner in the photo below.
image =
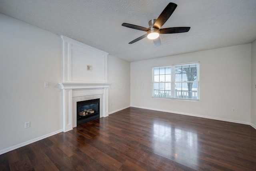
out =
{"type": "Polygon", "coordinates": [[[108,113],[130,107],[130,62],[108,55],[108,113]]]}

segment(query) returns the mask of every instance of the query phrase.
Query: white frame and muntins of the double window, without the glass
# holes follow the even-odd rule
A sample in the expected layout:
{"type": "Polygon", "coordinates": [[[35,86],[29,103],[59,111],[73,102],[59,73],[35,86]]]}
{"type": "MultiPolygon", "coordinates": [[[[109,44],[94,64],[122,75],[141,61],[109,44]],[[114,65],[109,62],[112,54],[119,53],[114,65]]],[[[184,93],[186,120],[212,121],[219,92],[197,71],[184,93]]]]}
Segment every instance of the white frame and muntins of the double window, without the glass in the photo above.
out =
{"type": "MultiPolygon", "coordinates": [[[[199,74],[200,74],[200,62],[191,62],[191,63],[184,63],[184,64],[173,64],[173,65],[169,65],[169,66],[158,66],[158,67],[153,67],[152,68],[152,97],[153,98],[163,98],[163,99],[181,99],[181,100],[192,100],[192,101],[199,101],[199,74]],[[179,98],[179,97],[175,97],[175,84],[176,83],[189,83],[189,81],[186,82],[176,82],[175,80],[175,67],[176,66],[186,66],[186,65],[191,65],[191,64],[197,64],[197,79],[196,81],[192,81],[193,83],[197,83],[197,99],[195,98],[179,98]],[[154,69],[155,68],[167,68],[167,67],[171,67],[171,82],[154,82],[154,69]],[[154,96],[154,83],[171,83],[171,97],[162,97],[162,96],[154,96]]],[[[166,75],[166,74],[164,74],[166,75]]],[[[159,88],[158,88],[159,90],[159,88]]],[[[164,91],[166,91],[164,89],[164,91]]]]}

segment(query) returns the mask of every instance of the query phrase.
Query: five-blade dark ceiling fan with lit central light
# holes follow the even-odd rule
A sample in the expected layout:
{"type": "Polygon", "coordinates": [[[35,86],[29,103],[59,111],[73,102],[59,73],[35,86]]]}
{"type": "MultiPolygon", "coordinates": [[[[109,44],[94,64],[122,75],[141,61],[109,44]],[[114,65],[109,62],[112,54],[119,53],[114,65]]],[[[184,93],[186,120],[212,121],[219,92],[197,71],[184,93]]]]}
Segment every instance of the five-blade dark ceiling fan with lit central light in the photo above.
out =
{"type": "Polygon", "coordinates": [[[140,36],[136,38],[135,40],[132,40],[129,44],[133,44],[139,40],[142,40],[143,38],[148,38],[153,40],[154,44],[156,46],[161,45],[161,40],[159,38],[159,34],[171,34],[171,33],[183,33],[183,32],[188,32],[190,27],[171,27],[171,28],[161,28],[164,23],[170,18],[174,10],[176,9],[177,4],[174,4],[170,2],[162,11],[160,16],[157,19],[152,19],[148,22],[149,27],[141,27],[141,26],[136,26],[133,24],[128,24],[128,23],[123,23],[122,26],[137,29],[137,30],[142,30],[147,32],[147,34],[144,34],[143,36],[140,36]]]}

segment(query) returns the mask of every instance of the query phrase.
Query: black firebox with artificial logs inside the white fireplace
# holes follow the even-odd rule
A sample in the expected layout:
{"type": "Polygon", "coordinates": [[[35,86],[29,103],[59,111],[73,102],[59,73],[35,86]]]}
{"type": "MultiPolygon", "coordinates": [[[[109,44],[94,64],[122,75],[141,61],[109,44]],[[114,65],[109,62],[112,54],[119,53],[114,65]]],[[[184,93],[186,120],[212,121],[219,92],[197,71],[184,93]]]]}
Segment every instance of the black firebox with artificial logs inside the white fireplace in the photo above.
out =
{"type": "Polygon", "coordinates": [[[100,118],[100,99],[92,99],[76,102],[77,123],[83,123],[100,118]]]}

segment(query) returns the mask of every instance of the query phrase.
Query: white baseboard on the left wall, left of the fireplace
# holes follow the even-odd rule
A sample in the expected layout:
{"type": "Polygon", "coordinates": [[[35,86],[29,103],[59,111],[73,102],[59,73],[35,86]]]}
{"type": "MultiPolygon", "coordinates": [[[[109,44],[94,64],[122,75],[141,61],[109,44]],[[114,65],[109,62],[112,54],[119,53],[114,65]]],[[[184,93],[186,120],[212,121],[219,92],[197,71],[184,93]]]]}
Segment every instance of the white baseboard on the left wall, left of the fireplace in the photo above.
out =
{"type": "Polygon", "coordinates": [[[6,149],[2,149],[2,150],[0,150],[0,155],[1,155],[1,154],[4,154],[4,153],[7,153],[7,152],[9,152],[9,151],[12,151],[12,150],[14,150],[14,149],[18,149],[18,148],[23,147],[23,146],[25,146],[25,145],[34,143],[34,142],[39,141],[39,140],[41,140],[41,139],[50,137],[50,136],[55,135],[55,134],[57,134],[57,133],[60,133],[60,132],[62,132],[62,131],[63,131],[63,130],[61,129],[61,130],[58,130],[58,131],[55,131],[55,132],[52,132],[52,133],[48,133],[48,134],[43,135],[43,136],[41,136],[41,137],[37,137],[37,138],[31,139],[31,140],[26,141],[26,142],[24,142],[24,143],[20,143],[20,144],[14,145],[14,146],[8,147],[8,148],[6,148],[6,149]]]}

